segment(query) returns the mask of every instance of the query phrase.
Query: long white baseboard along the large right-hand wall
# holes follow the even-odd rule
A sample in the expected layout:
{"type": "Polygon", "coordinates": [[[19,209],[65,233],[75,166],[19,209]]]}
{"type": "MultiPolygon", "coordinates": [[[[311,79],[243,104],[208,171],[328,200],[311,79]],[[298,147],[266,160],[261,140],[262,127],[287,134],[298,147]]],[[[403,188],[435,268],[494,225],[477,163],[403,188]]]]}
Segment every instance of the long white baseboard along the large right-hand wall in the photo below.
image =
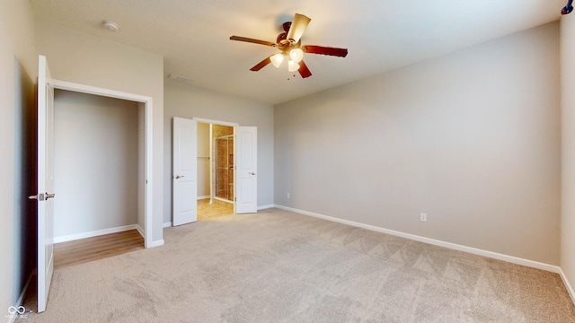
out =
{"type": "Polygon", "coordinates": [[[349,221],[349,220],[343,220],[343,219],[339,219],[339,218],[335,218],[332,216],[328,216],[328,215],[323,215],[323,214],[316,214],[313,212],[307,212],[307,211],[303,211],[303,210],[298,210],[295,208],[291,208],[288,206],[284,206],[284,205],[275,205],[275,207],[282,209],[282,210],[286,210],[286,211],[290,211],[296,214],[303,214],[303,215],[308,215],[308,216],[313,216],[316,218],[320,218],[323,220],[328,220],[328,221],[332,221],[332,222],[336,222],[336,223],[343,223],[343,224],[348,224],[351,226],[355,226],[358,228],[363,228],[363,229],[367,229],[367,230],[371,230],[371,231],[377,231],[377,232],[382,232],[385,234],[390,234],[390,235],[394,235],[396,237],[402,237],[405,239],[409,239],[409,240],[415,240],[415,241],[420,241],[420,242],[424,242],[424,243],[429,243],[431,245],[435,245],[435,246],[439,246],[439,247],[444,247],[447,249],[454,249],[454,250],[458,250],[458,251],[464,251],[473,255],[478,255],[478,256],[482,256],[482,257],[487,257],[487,258],[493,258],[493,259],[498,259],[498,260],[503,260],[503,261],[507,261],[509,263],[512,264],[517,264],[517,265],[521,265],[521,266],[528,266],[528,267],[532,267],[532,268],[536,268],[536,269],[541,269],[541,270],[545,270],[548,272],[552,272],[552,273],[556,273],[556,274],[561,274],[562,270],[561,267],[559,266],[553,266],[553,265],[549,265],[549,264],[544,264],[538,261],[534,261],[534,260],[529,260],[529,259],[524,259],[524,258],[517,258],[517,257],[513,257],[513,256],[509,256],[509,255],[503,255],[497,252],[492,252],[492,251],[488,251],[488,250],[483,250],[483,249],[476,249],[476,248],[472,248],[472,247],[467,247],[467,246],[463,246],[463,245],[459,245],[456,243],[451,243],[451,242],[446,242],[446,241],[442,241],[442,240],[435,240],[435,239],[430,239],[430,238],[426,238],[426,237],[421,237],[415,234],[411,234],[411,233],[405,233],[405,232],[401,232],[401,231],[394,231],[394,230],[389,230],[389,229],[385,229],[385,228],[380,228],[380,227],[376,227],[375,225],[369,225],[369,224],[364,224],[364,223],[356,223],[353,221],[349,221]]]}

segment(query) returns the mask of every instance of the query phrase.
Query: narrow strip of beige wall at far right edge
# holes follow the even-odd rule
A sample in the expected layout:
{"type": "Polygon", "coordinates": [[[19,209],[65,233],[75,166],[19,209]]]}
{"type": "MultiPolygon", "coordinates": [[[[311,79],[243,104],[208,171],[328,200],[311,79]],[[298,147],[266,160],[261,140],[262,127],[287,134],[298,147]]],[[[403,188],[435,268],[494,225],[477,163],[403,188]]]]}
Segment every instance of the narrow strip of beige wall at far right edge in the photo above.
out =
{"type": "MultiPolygon", "coordinates": [[[[562,249],[561,266],[575,285],[575,13],[562,16],[562,249]]],[[[571,292],[572,289],[571,289],[571,292]]],[[[575,295],[571,294],[571,297],[575,295]]]]}

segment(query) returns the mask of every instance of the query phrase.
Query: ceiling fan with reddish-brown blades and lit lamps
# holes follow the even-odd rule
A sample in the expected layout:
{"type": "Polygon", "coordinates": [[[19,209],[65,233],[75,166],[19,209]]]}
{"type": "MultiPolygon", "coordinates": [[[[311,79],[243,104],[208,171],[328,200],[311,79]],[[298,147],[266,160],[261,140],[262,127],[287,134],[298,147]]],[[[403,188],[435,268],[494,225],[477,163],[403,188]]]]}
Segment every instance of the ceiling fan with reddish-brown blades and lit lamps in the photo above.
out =
{"type": "Polygon", "coordinates": [[[284,22],[282,28],[284,32],[278,35],[276,42],[270,42],[260,39],[251,39],[240,36],[232,36],[231,40],[246,41],[254,44],[260,44],[265,46],[271,46],[278,48],[281,52],[278,54],[266,57],[260,63],[256,64],[250,70],[257,72],[261,70],[265,65],[273,64],[279,67],[284,60],[284,57],[289,57],[288,61],[288,71],[296,72],[298,71],[303,78],[312,76],[312,72],[309,71],[307,65],[304,63],[304,53],[308,54],[321,54],[334,57],[346,57],[348,55],[347,48],[329,48],[317,45],[301,45],[301,38],[304,34],[305,28],[312,20],[303,14],[296,13],[293,22],[284,22]]]}

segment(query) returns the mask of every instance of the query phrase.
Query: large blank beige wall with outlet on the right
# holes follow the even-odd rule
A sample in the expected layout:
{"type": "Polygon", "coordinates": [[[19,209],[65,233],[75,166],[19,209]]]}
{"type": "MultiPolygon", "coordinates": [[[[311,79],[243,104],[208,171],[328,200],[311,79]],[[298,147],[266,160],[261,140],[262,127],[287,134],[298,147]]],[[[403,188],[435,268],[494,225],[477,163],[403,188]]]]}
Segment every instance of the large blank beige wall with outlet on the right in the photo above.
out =
{"type": "Polygon", "coordinates": [[[275,202],[559,265],[559,88],[552,23],[280,104],[275,202]]]}

